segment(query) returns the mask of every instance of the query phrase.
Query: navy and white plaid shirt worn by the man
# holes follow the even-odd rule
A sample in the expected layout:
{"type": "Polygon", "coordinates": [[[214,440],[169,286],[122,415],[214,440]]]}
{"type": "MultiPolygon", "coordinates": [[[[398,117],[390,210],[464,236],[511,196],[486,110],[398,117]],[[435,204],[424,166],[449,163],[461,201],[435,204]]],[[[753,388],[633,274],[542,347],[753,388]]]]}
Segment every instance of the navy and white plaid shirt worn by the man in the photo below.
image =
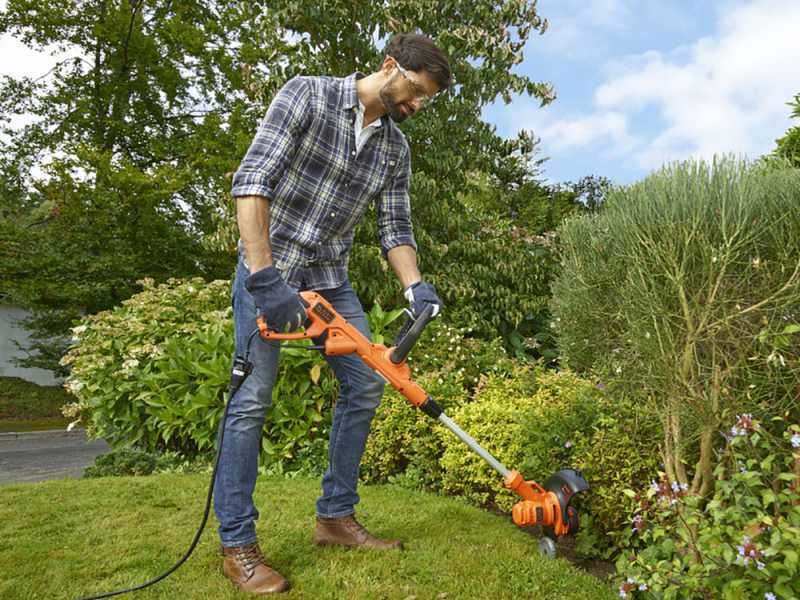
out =
{"type": "Polygon", "coordinates": [[[295,77],[275,96],[239,169],[233,196],[270,200],[275,266],[299,289],[347,279],[353,234],[377,203],[381,251],[416,249],[408,142],[388,117],[356,152],[356,78],[295,77]]]}

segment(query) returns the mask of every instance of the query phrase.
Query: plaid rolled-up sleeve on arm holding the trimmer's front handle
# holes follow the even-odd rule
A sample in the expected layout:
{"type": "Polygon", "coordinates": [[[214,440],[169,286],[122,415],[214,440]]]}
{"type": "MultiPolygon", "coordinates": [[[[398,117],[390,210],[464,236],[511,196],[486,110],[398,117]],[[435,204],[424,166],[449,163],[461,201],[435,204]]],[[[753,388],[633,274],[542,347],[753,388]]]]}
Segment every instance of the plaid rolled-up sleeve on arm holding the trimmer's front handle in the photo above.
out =
{"type": "Polygon", "coordinates": [[[417,249],[414,231],[411,225],[411,200],[408,194],[411,183],[411,159],[406,152],[400,159],[394,175],[381,191],[378,199],[378,236],[381,242],[381,254],[387,253],[396,246],[411,246],[417,249]]]}

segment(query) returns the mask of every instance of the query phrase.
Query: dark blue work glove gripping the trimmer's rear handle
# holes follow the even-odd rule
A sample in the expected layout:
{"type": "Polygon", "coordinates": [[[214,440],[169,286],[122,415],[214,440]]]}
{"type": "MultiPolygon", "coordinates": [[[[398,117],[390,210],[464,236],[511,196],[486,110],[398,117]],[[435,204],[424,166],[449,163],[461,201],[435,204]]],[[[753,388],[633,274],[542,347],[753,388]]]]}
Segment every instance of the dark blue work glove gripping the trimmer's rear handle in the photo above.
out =
{"type": "Polygon", "coordinates": [[[285,333],[306,322],[306,307],[300,295],[286,284],[274,266],[251,273],[244,280],[244,287],[253,296],[269,329],[285,333]]]}

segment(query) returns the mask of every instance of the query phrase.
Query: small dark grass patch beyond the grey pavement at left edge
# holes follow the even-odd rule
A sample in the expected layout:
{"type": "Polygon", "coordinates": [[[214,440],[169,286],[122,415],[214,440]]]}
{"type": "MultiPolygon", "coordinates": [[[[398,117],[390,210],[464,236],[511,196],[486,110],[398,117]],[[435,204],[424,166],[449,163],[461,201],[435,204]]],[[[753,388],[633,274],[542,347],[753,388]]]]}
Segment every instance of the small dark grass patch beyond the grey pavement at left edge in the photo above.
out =
{"type": "Polygon", "coordinates": [[[36,385],[19,377],[0,377],[0,433],[66,427],[61,407],[72,400],[59,385],[36,385]]]}

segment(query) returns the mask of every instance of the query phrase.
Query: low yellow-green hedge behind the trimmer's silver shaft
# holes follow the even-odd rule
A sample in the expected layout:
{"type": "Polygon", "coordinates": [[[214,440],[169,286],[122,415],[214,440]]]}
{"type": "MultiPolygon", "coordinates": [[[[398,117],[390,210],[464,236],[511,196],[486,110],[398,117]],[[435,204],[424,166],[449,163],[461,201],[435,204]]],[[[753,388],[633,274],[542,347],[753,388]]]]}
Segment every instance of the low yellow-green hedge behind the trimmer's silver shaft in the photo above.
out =
{"type": "MultiPolygon", "coordinates": [[[[469,390],[452,371],[429,373],[420,383],[449,394],[441,396],[445,412],[506,467],[540,483],[560,468],[583,472],[591,489],[576,500],[580,554],[608,557],[636,543],[636,506],[624,490],[646,486],[660,463],[659,423],[647,403],[569,371],[513,362],[469,390]]],[[[455,435],[395,393],[378,408],[362,474],[501,510],[518,500],[455,435]]]]}

